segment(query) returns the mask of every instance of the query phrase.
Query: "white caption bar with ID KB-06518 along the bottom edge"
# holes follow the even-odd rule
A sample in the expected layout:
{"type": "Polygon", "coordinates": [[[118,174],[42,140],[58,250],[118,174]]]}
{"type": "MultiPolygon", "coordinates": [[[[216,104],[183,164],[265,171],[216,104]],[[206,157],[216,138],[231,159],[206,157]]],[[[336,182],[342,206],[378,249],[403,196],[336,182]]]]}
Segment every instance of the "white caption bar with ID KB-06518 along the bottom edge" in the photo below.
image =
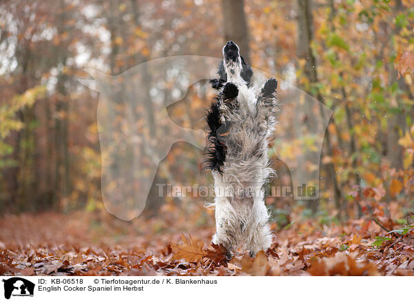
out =
{"type": "MultiPolygon", "coordinates": [[[[1,276],[0,300],[398,300],[411,277],[1,276]],[[388,289],[386,289],[388,288],[388,289]],[[30,298],[25,298],[30,297],[30,298]],[[167,299],[165,299],[167,300],[167,299]],[[168,299],[170,300],[170,299],[168,299]]],[[[404,293],[405,292],[405,293],[404,293]]]]}

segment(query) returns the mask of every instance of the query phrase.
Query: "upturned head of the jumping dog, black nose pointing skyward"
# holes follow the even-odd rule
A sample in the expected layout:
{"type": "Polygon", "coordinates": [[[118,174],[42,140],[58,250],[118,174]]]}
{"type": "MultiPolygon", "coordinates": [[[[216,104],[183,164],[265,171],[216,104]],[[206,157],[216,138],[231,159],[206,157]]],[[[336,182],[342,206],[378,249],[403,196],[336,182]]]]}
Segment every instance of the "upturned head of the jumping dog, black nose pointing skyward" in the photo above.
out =
{"type": "MultiPolygon", "coordinates": [[[[247,86],[250,86],[253,70],[240,55],[239,46],[233,41],[228,41],[223,47],[223,60],[219,64],[217,73],[222,81],[229,81],[228,77],[237,79],[242,77],[247,86]]],[[[233,81],[233,80],[232,80],[233,81]]]]}

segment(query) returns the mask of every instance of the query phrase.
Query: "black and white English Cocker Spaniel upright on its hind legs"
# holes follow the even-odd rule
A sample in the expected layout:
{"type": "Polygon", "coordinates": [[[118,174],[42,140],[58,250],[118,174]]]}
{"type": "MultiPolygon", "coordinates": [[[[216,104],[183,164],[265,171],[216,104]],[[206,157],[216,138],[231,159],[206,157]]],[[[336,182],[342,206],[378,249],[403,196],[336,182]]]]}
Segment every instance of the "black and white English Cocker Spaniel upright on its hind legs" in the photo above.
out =
{"type": "Polygon", "coordinates": [[[274,175],[268,159],[268,138],[277,112],[277,81],[268,79],[255,88],[253,70],[228,41],[219,64],[219,79],[210,79],[218,90],[207,115],[209,128],[206,168],[215,181],[215,244],[222,244],[231,258],[244,246],[250,256],[272,243],[264,186],[274,175]]]}

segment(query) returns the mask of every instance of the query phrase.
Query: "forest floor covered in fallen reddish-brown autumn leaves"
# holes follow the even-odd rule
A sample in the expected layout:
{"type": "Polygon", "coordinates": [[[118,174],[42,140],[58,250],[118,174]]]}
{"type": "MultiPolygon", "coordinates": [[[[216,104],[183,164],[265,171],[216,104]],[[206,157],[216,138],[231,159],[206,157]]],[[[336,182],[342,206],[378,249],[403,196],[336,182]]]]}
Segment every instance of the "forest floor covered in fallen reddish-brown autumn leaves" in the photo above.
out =
{"type": "MultiPolygon", "coordinates": [[[[0,220],[0,275],[413,275],[414,231],[383,217],[344,226],[295,222],[250,258],[210,244],[214,228],[184,234],[157,220],[41,213],[0,220]]],[[[172,224],[174,224],[171,221],[172,224]]],[[[175,223],[179,224],[179,223],[175,223]]],[[[273,224],[273,229],[276,229],[273,224]]]]}

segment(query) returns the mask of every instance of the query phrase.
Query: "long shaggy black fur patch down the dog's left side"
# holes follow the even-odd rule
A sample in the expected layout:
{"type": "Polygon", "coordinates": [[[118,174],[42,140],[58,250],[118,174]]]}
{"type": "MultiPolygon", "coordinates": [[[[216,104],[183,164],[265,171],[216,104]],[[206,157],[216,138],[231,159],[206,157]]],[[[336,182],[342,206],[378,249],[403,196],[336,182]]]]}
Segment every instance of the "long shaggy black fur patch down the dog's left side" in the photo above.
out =
{"type": "Polygon", "coordinates": [[[220,110],[219,110],[219,99],[213,101],[207,114],[207,125],[208,125],[208,148],[206,155],[207,159],[203,161],[204,168],[211,169],[222,173],[221,167],[224,166],[226,161],[226,146],[219,141],[217,137],[217,131],[222,126],[220,121],[220,110]]]}

